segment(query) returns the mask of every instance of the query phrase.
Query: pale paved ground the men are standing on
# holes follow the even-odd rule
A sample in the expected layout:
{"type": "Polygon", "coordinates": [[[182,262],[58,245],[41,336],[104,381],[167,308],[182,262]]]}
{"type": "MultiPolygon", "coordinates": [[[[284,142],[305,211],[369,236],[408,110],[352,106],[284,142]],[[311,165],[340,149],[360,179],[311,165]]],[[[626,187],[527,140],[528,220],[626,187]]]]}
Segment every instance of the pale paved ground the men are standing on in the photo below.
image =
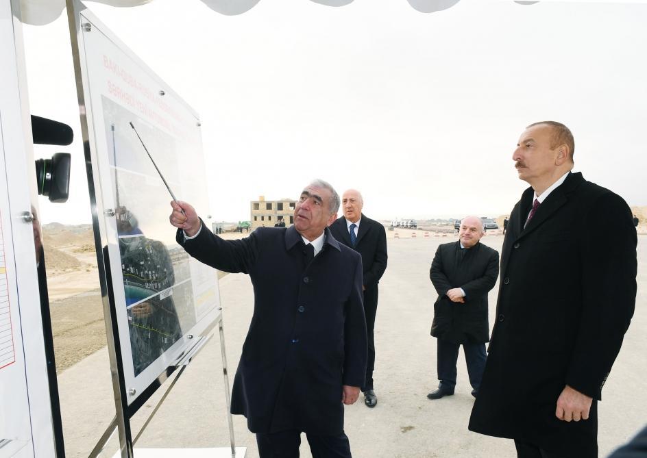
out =
{"type": "MultiPolygon", "coordinates": [[[[437,385],[435,340],[429,336],[435,293],[428,270],[439,243],[454,236],[389,238],[389,267],[380,283],[376,320],[376,392],[379,403],[346,408],[346,433],[355,457],[515,457],[511,440],[467,431],[473,398],[462,353],[456,394],[428,400],[437,385]]],[[[500,250],[501,236],[485,244],[500,250]]],[[[638,299],[631,328],[609,376],[600,404],[600,457],[628,440],[647,423],[647,237],[639,237],[638,299]]],[[[252,316],[253,293],[246,275],[220,281],[230,380],[252,316]]],[[[490,294],[490,320],[497,287],[490,294]]],[[[87,456],[114,414],[106,349],[60,376],[68,456],[87,456]]],[[[316,396],[313,393],[313,396],[316,396]]],[[[156,394],[133,419],[141,424],[156,394]]],[[[234,417],[236,444],[257,457],[254,435],[245,419],[234,417]]],[[[112,444],[116,444],[115,440],[112,444]]],[[[229,443],[217,336],[195,358],[143,433],[142,447],[206,447],[229,443]]],[[[112,456],[106,453],[103,456],[112,456]]],[[[178,455],[180,456],[180,455],[178,455]]],[[[302,457],[310,457],[307,442],[302,457]]]]}

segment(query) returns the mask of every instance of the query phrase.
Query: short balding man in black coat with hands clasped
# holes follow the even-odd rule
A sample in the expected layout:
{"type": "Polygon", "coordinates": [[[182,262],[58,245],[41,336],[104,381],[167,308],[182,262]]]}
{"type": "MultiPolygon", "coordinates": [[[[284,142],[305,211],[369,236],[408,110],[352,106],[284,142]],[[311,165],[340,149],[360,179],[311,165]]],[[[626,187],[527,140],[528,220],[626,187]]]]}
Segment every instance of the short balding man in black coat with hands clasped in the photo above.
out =
{"type": "Polygon", "coordinates": [[[429,277],[438,293],[431,335],[437,338],[437,390],[427,397],[454,394],[456,361],[463,346],[472,396],[476,397],[485,368],[485,343],[489,341],[487,293],[499,273],[499,253],[480,243],[483,221],[467,216],[461,222],[459,241],[441,244],[431,263],[429,277]]]}

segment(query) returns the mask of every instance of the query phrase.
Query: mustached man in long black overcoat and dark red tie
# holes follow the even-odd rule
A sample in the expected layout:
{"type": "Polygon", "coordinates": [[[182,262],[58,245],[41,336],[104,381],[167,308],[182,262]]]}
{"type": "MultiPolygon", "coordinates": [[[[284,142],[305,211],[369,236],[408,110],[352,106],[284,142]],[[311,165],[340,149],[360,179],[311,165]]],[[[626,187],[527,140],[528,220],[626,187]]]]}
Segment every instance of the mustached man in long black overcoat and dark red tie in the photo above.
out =
{"type": "Polygon", "coordinates": [[[530,188],[510,214],[469,429],[514,439],[523,458],[598,456],[597,400],[635,307],[631,211],[571,173],[574,147],[565,125],[544,121],[526,127],[512,155],[530,188]],[[596,231],[601,214],[615,223],[596,231]]]}

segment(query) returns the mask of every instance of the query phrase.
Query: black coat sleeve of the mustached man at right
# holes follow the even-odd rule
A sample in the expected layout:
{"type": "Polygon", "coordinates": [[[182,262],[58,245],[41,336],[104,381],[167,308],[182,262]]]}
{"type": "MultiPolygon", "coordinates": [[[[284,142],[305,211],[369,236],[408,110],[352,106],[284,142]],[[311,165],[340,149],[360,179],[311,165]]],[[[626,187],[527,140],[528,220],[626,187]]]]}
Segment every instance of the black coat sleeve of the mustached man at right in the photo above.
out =
{"type": "Polygon", "coordinates": [[[602,386],[620,352],[636,302],[636,230],[631,210],[616,194],[592,205],[581,231],[582,311],[566,383],[600,400],[602,386]],[[613,226],[594,230],[599,215],[613,226]]]}

